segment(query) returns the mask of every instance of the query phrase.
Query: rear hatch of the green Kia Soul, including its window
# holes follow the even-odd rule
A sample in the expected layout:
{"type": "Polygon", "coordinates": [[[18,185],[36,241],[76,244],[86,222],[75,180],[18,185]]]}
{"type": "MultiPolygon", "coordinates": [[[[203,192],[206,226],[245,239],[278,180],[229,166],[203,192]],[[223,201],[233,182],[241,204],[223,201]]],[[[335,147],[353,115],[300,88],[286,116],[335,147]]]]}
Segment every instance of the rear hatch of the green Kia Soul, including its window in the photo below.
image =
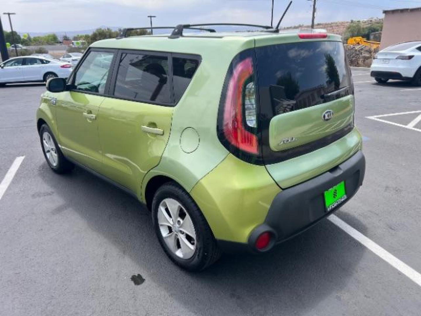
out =
{"type": "Polygon", "coordinates": [[[352,79],[340,37],[256,38],[256,72],[261,155],[281,188],[316,177],[358,150],[352,79]]]}

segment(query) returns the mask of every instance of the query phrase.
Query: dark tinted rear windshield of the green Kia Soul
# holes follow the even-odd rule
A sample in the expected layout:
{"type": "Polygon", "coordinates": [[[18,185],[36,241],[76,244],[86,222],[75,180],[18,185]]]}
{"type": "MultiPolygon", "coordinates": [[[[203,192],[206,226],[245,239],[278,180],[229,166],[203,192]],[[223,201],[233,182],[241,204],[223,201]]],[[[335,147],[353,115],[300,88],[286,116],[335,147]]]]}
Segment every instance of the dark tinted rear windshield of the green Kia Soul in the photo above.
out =
{"type": "Polygon", "coordinates": [[[341,42],[263,46],[256,48],[256,57],[258,84],[270,95],[273,116],[352,93],[341,42]]]}

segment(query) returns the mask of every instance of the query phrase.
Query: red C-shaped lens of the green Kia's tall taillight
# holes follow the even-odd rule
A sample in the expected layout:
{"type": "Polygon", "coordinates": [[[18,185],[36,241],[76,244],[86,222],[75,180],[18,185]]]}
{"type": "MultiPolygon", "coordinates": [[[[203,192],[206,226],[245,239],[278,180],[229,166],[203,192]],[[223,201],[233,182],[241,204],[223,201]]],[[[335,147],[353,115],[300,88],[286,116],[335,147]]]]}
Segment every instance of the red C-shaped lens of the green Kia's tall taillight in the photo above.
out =
{"type": "MultiPolygon", "coordinates": [[[[248,153],[258,154],[258,138],[244,127],[243,90],[253,76],[253,60],[248,57],[239,62],[232,73],[226,91],[223,131],[226,140],[248,153]]],[[[250,96],[248,96],[250,97],[250,96]]]]}

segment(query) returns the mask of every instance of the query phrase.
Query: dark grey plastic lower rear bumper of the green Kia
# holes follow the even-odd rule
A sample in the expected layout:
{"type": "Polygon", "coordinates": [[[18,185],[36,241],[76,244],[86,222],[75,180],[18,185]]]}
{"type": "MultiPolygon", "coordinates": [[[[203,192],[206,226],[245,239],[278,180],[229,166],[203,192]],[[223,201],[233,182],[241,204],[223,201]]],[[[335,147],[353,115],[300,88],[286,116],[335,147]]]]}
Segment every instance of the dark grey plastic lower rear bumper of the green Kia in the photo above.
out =
{"type": "Polygon", "coordinates": [[[365,174],[365,158],[358,151],[348,160],[318,177],[278,193],[266,215],[263,224],[256,227],[248,238],[248,244],[220,241],[223,250],[255,250],[256,239],[266,231],[272,234],[272,242],[263,250],[268,251],[279,244],[310,228],[323,218],[335,212],[357,193],[365,174]],[[346,200],[328,212],[325,208],[324,192],[339,182],[345,181],[346,200]]]}

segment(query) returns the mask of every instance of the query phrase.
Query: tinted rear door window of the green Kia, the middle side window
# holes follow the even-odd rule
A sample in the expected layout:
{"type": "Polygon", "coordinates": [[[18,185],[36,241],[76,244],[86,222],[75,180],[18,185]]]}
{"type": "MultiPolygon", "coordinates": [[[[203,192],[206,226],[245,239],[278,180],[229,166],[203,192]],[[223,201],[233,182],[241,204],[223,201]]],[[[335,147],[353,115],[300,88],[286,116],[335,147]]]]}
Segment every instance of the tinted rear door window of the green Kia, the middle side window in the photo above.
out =
{"type": "Polygon", "coordinates": [[[168,56],[123,52],[114,95],[152,103],[171,103],[168,56]]]}

